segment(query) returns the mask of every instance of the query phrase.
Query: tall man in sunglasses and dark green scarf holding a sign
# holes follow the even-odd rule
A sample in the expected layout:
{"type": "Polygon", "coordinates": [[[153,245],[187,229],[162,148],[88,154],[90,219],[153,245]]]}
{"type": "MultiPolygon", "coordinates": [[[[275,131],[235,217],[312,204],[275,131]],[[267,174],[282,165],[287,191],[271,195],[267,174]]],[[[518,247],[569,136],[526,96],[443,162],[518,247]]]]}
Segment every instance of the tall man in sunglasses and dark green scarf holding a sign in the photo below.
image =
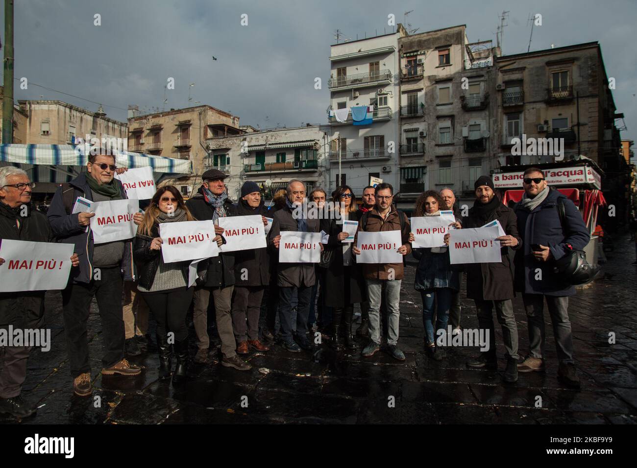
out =
{"type": "MultiPolygon", "coordinates": [[[[69,285],[62,291],[69,367],[73,391],[79,396],[88,396],[92,392],[87,321],[94,297],[105,348],[102,374],[134,376],[141,372],[138,365],[129,364],[124,358],[122,288],[123,281],[135,279],[131,239],[95,245],[93,233],[87,229],[95,214],[72,213],[80,196],[90,201],[126,198],[122,183],[114,178],[116,171],[115,156],[108,148],[92,148],[86,172],[58,188],[47,212],[57,242],[75,244],[74,252],[80,258],[79,268],[71,270],[69,285]]],[[[136,223],[141,223],[142,219],[141,213],[134,215],[136,223]]]]}

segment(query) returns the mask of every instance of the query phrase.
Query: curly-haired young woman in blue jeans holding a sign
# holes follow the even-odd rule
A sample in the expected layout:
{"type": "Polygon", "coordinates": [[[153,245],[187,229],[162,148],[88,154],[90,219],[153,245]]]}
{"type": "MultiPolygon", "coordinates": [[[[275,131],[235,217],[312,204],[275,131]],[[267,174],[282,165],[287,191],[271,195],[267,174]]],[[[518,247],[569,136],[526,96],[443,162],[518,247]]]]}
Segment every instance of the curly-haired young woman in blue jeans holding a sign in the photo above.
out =
{"type": "MultiPolygon", "coordinates": [[[[440,194],[435,190],[423,192],[416,201],[415,216],[440,216],[444,206],[440,194]]],[[[413,241],[413,232],[410,241],[413,241]]],[[[449,309],[454,292],[460,290],[460,274],[449,260],[446,246],[414,248],[413,257],[419,260],[414,288],[422,296],[422,320],[425,325],[425,348],[434,360],[445,357],[444,348],[436,346],[436,337],[447,329],[449,309]],[[434,303],[436,307],[436,326],[434,329],[434,303]]]]}

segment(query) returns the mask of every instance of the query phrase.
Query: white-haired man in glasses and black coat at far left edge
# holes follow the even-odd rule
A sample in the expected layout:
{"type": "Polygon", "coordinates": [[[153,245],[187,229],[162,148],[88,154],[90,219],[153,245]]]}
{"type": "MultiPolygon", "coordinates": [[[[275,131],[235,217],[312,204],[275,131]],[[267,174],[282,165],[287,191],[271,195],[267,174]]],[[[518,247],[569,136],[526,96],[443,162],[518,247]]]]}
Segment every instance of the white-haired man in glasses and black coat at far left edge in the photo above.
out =
{"type": "MultiPolygon", "coordinates": [[[[0,169],[0,243],[3,239],[51,241],[47,216],[30,206],[32,188],[29,176],[22,169],[13,166],[0,169]]],[[[76,253],[71,262],[74,267],[80,264],[76,253]]],[[[0,259],[0,265],[3,263],[4,259],[0,259]]],[[[45,291],[0,293],[0,329],[44,327],[44,295],[45,291]]],[[[0,413],[25,418],[36,412],[36,408],[20,396],[30,351],[31,346],[0,346],[0,413]]]]}

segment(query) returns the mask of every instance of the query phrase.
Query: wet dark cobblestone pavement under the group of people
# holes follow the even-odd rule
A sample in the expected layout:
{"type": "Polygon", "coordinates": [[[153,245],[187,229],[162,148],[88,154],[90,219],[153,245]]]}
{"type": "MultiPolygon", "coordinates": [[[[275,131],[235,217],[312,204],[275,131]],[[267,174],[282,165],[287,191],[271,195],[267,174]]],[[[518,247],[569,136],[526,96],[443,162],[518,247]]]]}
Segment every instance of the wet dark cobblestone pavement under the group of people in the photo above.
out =
{"type": "MultiPolygon", "coordinates": [[[[605,276],[578,290],[569,304],[580,392],[557,380],[547,311],[545,373],[520,374],[513,385],[501,382],[506,363],[497,322],[499,371],[466,368],[476,348],[448,348],[443,362],[427,358],[422,304],[412,287],[415,265],[410,264],[401,293],[399,347],[406,355],[404,363],[384,352],[362,358],[362,342],[357,351],[338,355],[327,344],[315,355],[289,353],[275,345],[268,353],[248,357],[254,365],[249,372],[221,367],[218,358],[208,365],[190,365],[189,381],[178,389],[157,379],[158,358],[152,352],[129,358],[144,367],[140,376],[102,376],[101,325],[94,302],[89,319],[94,393],[88,398],[73,395],[61,298],[59,292],[48,294],[52,348],[36,350],[29,359],[23,396],[40,408],[23,423],[636,423],[633,252],[627,235],[618,238],[614,252],[607,254],[605,276]],[[608,343],[609,332],[615,333],[615,344],[608,343]],[[536,408],[538,396],[541,408],[536,408]],[[243,397],[247,408],[241,406],[243,397]],[[389,407],[390,397],[394,408],[389,407]]],[[[477,328],[473,301],[463,299],[462,305],[462,327],[477,328]]],[[[520,353],[526,353],[526,315],[520,297],[514,305],[520,353]]],[[[192,346],[194,352],[194,342],[192,346]]]]}

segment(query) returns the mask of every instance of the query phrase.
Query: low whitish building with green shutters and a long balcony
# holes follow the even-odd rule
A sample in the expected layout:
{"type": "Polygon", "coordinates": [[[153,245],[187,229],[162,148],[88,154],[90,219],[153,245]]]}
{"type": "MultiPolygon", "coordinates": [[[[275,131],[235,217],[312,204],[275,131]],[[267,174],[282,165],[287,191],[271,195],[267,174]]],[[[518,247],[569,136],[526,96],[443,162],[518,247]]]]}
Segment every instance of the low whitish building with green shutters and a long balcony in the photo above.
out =
{"type": "Polygon", "coordinates": [[[287,187],[293,178],[303,181],[308,193],[314,187],[327,187],[328,125],[250,129],[245,134],[206,140],[210,153],[205,167],[229,174],[231,199],[239,197],[241,185],[248,180],[261,187],[266,199],[271,199],[279,188],[287,187]]]}

